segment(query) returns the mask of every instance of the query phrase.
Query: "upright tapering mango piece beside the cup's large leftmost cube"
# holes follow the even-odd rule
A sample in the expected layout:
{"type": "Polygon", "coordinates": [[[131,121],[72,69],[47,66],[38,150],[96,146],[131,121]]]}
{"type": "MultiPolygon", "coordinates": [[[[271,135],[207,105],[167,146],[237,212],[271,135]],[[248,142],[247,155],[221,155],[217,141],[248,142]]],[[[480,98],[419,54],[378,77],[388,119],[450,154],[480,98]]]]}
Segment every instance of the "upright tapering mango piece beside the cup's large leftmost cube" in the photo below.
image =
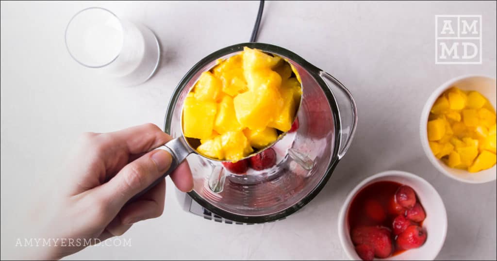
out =
{"type": "Polygon", "coordinates": [[[238,122],[235,114],[235,106],[233,105],[233,98],[231,96],[224,96],[220,103],[218,103],[218,113],[214,121],[214,130],[220,134],[228,131],[242,130],[243,126],[238,122]]]}

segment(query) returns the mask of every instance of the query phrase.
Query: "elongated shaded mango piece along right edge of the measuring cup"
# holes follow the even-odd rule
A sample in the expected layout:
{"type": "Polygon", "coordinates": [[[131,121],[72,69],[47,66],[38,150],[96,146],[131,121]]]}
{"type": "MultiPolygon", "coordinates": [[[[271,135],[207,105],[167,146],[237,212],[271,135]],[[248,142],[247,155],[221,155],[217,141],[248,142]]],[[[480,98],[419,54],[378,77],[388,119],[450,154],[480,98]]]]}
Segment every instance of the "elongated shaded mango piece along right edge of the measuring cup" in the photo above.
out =
{"type": "Polygon", "coordinates": [[[300,103],[302,95],[300,83],[295,78],[285,81],[280,88],[280,94],[283,98],[283,106],[279,115],[267,126],[286,132],[292,128],[297,106],[300,103]]]}

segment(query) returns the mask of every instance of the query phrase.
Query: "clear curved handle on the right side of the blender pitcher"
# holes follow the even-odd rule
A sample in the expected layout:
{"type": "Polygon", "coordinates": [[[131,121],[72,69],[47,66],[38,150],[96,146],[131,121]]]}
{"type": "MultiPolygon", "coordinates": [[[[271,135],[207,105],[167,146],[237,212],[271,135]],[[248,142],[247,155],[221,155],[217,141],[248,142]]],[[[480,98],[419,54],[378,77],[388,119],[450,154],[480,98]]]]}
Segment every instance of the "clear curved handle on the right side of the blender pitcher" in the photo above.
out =
{"type": "Polygon", "coordinates": [[[331,94],[335,97],[338,108],[338,120],[341,124],[340,146],[338,147],[338,159],[340,160],[347,152],[352,139],[354,138],[355,129],[357,127],[357,106],[350,91],[338,82],[338,80],[324,71],[319,72],[319,76],[331,90],[331,94]],[[335,92],[335,89],[338,90],[338,92],[335,92]],[[342,101],[342,104],[340,104],[339,101],[342,101]]]}

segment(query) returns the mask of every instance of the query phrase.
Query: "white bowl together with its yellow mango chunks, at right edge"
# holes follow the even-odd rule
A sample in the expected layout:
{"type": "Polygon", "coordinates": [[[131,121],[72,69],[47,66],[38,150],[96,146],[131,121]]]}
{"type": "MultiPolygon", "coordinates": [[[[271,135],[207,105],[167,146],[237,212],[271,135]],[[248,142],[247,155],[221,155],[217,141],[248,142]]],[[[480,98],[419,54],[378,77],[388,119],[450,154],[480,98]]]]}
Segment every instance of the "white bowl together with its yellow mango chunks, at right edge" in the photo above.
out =
{"type": "Polygon", "coordinates": [[[420,136],[430,162],[467,183],[496,180],[496,78],[469,75],[438,87],[421,114],[420,136]]]}

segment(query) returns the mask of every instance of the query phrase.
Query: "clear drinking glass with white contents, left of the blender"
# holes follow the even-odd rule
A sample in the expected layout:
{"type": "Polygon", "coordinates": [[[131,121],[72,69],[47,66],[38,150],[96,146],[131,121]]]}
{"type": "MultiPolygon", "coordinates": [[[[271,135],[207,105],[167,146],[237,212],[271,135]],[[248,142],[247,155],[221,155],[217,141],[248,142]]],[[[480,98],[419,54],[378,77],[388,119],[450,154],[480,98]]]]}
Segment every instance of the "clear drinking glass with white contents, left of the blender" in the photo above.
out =
{"type": "Polygon", "coordinates": [[[105,8],[89,7],[75,14],[65,39],[78,63],[125,85],[147,81],[159,65],[160,46],[154,33],[105,8]]]}

